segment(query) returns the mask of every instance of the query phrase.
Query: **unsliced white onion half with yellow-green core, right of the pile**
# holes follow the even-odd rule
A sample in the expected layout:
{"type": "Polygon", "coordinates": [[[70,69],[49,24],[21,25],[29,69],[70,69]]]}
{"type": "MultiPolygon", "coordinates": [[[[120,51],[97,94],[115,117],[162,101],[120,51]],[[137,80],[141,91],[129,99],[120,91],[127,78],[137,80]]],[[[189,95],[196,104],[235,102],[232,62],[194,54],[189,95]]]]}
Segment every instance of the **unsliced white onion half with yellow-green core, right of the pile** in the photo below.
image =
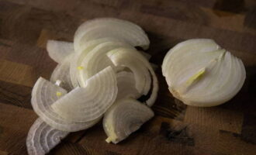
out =
{"type": "Polygon", "coordinates": [[[162,71],[171,94],[194,106],[227,102],[246,77],[241,60],[206,39],[178,43],[164,57],[162,71]]]}

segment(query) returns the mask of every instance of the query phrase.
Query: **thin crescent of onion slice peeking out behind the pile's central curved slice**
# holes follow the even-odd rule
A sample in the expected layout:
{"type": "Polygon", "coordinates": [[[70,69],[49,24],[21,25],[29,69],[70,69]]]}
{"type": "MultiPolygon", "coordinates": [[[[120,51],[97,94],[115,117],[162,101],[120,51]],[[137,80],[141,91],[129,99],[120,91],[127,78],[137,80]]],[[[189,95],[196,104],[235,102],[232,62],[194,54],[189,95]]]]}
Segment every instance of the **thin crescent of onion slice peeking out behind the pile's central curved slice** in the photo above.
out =
{"type": "Polygon", "coordinates": [[[71,82],[74,88],[78,87],[78,72],[83,71],[82,62],[85,59],[86,55],[99,44],[113,41],[118,42],[118,40],[113,38],[100,38],[98,40],[88,41],[81,45],[81,50],[75,51],[74,57],[71,60],[70,67],[71,82]]]}

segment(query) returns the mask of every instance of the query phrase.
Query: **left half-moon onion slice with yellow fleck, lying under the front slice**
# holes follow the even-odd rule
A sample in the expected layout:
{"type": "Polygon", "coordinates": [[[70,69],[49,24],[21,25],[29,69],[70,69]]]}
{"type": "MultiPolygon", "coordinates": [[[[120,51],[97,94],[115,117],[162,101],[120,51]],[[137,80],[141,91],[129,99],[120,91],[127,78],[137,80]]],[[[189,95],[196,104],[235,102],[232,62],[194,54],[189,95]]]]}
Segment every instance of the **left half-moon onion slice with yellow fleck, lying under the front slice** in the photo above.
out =
{"type": "Polygon", "coordinates": [[[88,129],[89,127],[95,125],[95,123],[99,122],[100,118],[89,122],[71,122],[54,112],[50,105],[66,94],[67,91],[63,88],[52,84],[43,77],[40,77],[36,81],[32,91],[31,103],[33,109],[36,114],[39,115],[40,118],[43,119],[44,122],[47,122],[47,124],[50,126],[54,127],[55,129],[68,132],[88,129]]]}

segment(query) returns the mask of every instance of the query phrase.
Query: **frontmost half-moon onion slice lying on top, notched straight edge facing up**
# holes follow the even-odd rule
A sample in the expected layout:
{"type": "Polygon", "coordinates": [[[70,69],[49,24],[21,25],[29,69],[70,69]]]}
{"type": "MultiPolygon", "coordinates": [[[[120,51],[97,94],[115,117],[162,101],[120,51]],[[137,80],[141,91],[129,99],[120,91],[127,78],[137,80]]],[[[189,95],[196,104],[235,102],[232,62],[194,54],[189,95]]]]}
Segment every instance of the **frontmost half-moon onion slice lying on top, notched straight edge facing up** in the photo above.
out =
{"type": "Polygon", "coordinates": [[[57,114],[74,122],[88,122],[101,117],[117,95],[116,73],[106,67],[86,81],[85,88],[74,88],[52,106],[57,114]]]}

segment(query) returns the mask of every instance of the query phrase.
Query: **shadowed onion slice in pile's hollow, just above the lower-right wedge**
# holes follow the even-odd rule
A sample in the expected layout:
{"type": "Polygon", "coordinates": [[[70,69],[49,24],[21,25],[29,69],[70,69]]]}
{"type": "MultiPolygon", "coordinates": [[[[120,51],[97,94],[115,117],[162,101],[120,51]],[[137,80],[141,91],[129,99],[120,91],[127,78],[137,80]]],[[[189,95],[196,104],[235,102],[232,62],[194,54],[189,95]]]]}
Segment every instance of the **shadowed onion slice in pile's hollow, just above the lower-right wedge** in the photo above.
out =
{"type": "Polygon", "coordinates": [[[116,74],[118,93],[116,101],[121,98],[140,98],[141,94],[135,88],[133,73],[121,71],[116,74]]]}

